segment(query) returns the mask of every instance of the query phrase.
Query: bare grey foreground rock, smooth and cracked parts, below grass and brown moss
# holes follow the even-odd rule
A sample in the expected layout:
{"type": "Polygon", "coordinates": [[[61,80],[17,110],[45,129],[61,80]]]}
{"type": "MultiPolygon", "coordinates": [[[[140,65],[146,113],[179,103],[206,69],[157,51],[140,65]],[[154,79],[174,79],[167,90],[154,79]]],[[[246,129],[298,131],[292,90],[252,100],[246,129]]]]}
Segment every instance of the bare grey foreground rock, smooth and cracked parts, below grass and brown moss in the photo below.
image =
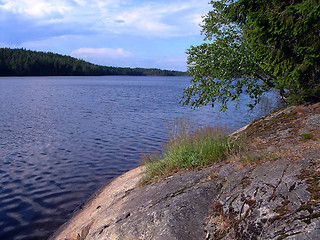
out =
{"type": "Polygon", "coordinates": [[[53,239],[320,239],[320,203],[310,190],[320,176],[304,172],[313,168],[280,159],[176,174],[118,192],[108,206],[100,199],[91,204],[98,222],[82,223],[77,237],[53,239]]]}

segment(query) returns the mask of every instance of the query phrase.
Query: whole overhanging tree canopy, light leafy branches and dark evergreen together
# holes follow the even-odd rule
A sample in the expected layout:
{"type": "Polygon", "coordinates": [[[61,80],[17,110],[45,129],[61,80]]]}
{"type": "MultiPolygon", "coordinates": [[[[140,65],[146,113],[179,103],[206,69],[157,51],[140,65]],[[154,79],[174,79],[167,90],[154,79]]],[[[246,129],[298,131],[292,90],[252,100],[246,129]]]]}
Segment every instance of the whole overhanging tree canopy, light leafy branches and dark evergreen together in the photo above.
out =
{"type": "Polygon", "coordinates": [[[315,0],[220,0],[203,18],[204,43],[187,50],[192,85],[183,104],[228,101],[250,106],[270,90],[289,103],[320,100],[320,3],[315,0]]]}

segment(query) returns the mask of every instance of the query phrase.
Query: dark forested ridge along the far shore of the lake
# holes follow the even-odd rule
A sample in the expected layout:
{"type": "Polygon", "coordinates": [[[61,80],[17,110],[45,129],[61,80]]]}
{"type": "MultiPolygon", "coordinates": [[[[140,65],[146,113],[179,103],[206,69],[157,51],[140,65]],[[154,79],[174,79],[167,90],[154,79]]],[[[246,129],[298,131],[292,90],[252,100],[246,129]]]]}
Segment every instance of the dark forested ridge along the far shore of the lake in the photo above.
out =
{"type": "Polygon", "coordinates": [[[51,52],[0,48],[0,76],[186,76],[185,72],[156,68],[95,65],[51,52]]]}

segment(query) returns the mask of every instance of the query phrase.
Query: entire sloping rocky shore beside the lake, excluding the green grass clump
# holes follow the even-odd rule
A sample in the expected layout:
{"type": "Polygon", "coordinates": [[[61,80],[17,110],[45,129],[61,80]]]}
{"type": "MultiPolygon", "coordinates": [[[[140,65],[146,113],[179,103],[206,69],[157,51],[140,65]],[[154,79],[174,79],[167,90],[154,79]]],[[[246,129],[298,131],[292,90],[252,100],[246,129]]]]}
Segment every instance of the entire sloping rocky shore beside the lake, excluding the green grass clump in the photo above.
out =
{"type": "Polygon", "coordinates": [[[144,167],[110,182],[50,238],[320,239],[320,104],[237,131],[246,158],[153,184],[144,167]]]}

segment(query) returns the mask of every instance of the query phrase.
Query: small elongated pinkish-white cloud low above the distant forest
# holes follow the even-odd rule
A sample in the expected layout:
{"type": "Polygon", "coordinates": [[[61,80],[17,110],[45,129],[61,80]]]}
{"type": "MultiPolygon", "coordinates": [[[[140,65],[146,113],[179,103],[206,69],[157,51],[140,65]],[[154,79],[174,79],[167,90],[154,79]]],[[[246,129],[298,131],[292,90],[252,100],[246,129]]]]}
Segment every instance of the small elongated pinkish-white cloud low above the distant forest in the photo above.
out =
{"type": "Polygon", "coordinates": [[[126,58],[131,52],[122,48],[80,48],[70,53],[71,56],[83,59],[90,58],[126,58]]]}

